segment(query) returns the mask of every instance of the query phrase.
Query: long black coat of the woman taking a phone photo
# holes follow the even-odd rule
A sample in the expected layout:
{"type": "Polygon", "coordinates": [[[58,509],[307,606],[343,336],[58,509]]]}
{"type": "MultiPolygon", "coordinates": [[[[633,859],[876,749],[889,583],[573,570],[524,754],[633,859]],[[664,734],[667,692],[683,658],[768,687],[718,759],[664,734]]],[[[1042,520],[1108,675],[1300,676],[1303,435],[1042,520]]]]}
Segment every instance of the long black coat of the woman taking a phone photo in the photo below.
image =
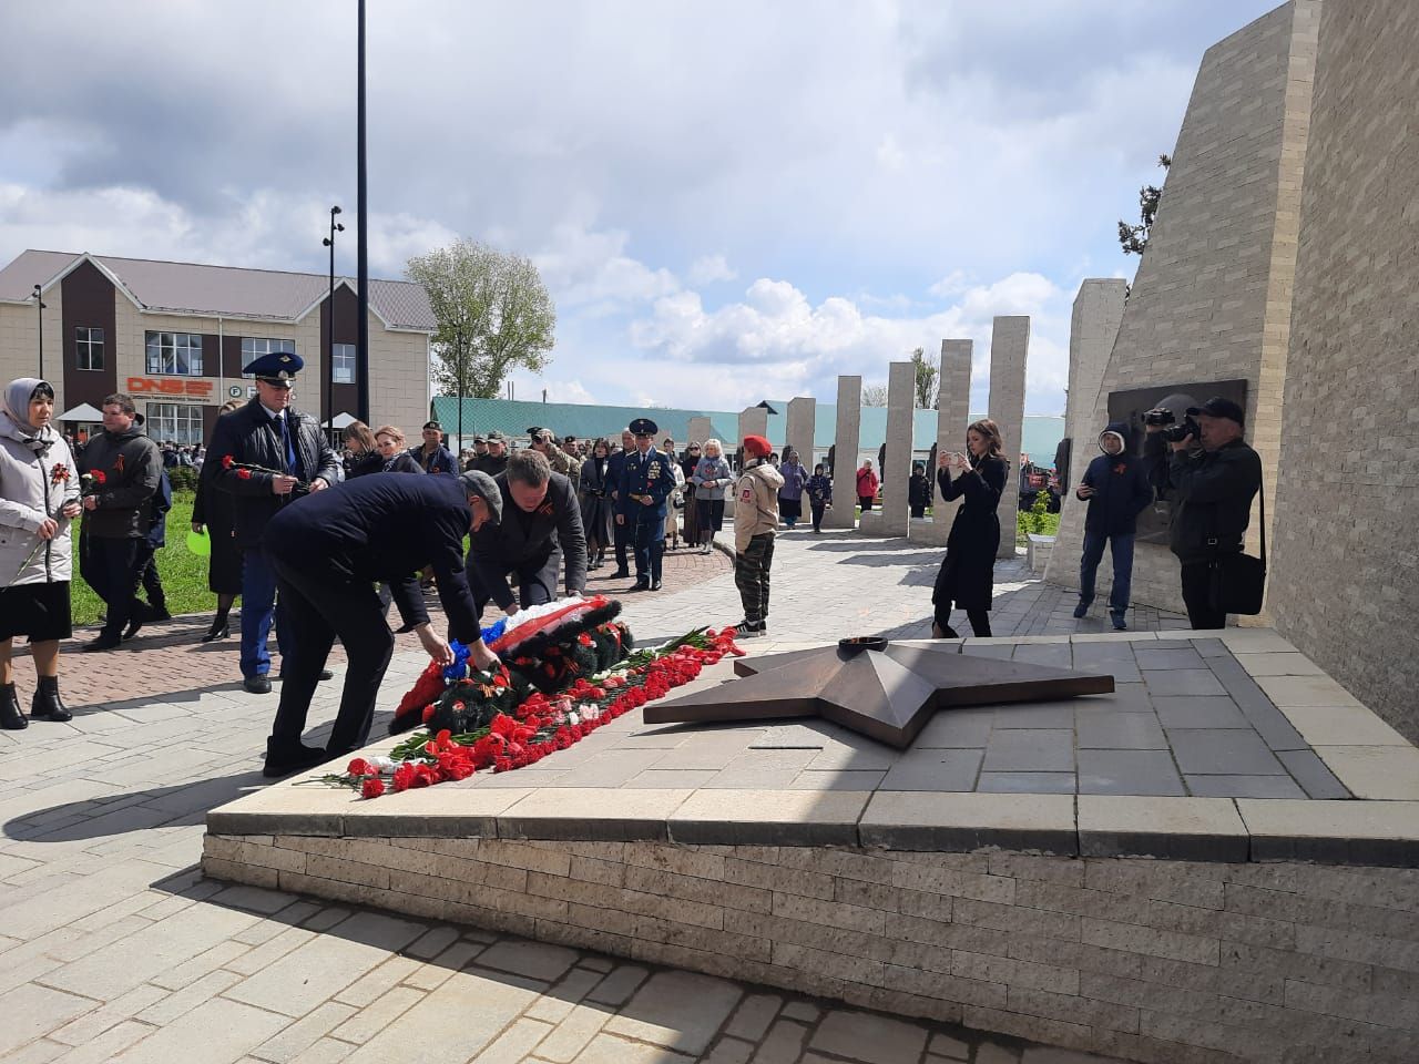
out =
{"type": "MultiPolygon", "coordinates": [[[[951,522],[946,556],[937,575],[934,603],[954,602],[962,610],[989,610],[995,594],[995,553],[1000,548],[1000,492],[1005,491],[1009,465],[1003,458],[985,458],[971,472],[955,481],[942,470],[938,474],[941,495],[946,502],[965,499],[951,522]]],[[[1012,535],[1015,529],[1010,529],[1012,535]]]]}

